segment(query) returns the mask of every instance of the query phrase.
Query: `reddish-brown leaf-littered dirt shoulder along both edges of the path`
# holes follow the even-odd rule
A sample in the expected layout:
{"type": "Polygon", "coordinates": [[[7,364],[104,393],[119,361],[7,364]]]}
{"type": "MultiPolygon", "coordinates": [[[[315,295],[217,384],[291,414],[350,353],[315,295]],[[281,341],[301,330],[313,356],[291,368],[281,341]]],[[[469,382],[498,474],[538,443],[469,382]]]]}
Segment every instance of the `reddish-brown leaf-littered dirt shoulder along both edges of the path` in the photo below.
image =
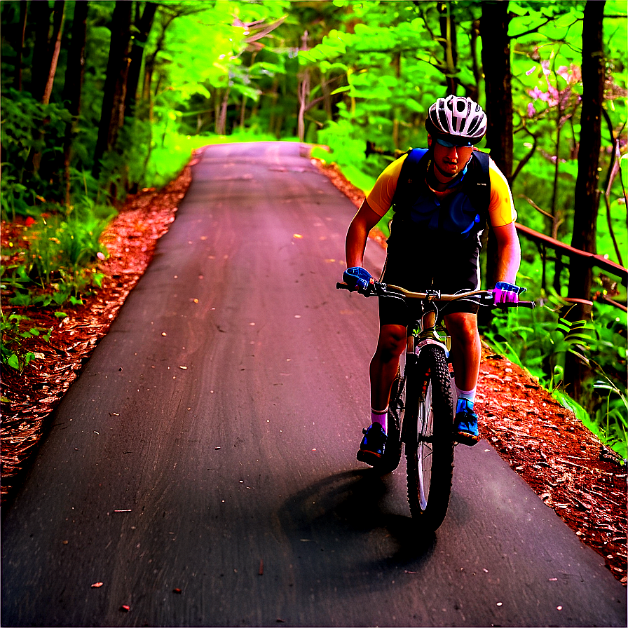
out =
{"type": "MultiPolygon", "coordinates": [[[[363,194],[334,167],[316,161],[334,185],[358,207],[363,194]]],[[[0,428],[2,502],[46,432],[46,421],[78,376],[92,350],[107,334],[126,296],[153,257],[158,238],[168,231],[191,183],[191,168],[162,190],[144,190],[126,201],[104,234],[109,258],[100,271],[102,287],[83,305],[66,307],[67,318],[39,308],[12,308],[39,327],[53,327],[50,343],[27,341],[41,354],[22,375],[4,369],[0,428]]],[[[2,224],[3,263],[9,244],[23,242],[23,223],[2,224]]],[[[380,233],[371,237],[385,246],[380,233]]],[[[5,296],[5,295],[3,295],[5,296]]],[[[577,534],[606,561],[617,580],[627,582],[626,467],[606,454],[591,432],[542,390],[526,373],[484,348],[477,409],[482,437],[577,534]],[[490,403],[488,403],[490,401],[490,403]]],[[[482,446],[482,444],[480,444],[482,446]]]]}

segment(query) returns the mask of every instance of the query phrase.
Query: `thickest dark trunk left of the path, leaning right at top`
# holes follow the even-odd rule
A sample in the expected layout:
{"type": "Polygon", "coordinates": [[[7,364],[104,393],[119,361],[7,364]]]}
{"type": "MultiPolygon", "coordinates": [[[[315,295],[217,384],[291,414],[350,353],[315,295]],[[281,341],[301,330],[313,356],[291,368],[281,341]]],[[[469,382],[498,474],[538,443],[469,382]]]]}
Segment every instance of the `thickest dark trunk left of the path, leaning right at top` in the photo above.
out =
{"type": "Polygon", "coordinates": [[[128,76],[128,46],[130,40],[132,2],[116,0],[111,16],[111,45],[107,60],[107,78],[104,81],[104,96],[98,139],[94,153],[92,174],[97,179],[102,168],[104,153],[116,143],[118,132],[124,123],[124,100],[128,76]]]}

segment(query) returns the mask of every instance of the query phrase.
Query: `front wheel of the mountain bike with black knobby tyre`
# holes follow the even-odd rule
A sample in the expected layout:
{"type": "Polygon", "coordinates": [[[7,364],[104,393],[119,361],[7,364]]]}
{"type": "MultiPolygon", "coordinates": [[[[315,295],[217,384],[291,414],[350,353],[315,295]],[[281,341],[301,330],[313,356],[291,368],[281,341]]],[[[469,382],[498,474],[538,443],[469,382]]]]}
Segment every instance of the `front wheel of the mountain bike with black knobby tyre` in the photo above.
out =
{"type": "Polygon", "coordinates": [[[408,502],[412,517],[436,530],[449,506],[453,477],[453,399],[444,350],[426,346],[414,369],[404,418],[408,502]]]}

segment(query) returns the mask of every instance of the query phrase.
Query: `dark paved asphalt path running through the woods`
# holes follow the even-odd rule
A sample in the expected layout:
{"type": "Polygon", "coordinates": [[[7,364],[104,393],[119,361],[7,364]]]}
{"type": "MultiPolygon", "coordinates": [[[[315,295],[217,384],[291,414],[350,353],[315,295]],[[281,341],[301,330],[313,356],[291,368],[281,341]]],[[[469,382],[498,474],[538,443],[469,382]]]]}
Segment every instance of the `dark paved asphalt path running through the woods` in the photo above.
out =
{"type": "Polygon", "coordinates": [[[5,509],[2,625],[626,626],[486,442],[456,448],[428,537],[404,463],[355,460],[377,308],[334,289],[354,212],[306,146],[204,150],[5,509]]]}

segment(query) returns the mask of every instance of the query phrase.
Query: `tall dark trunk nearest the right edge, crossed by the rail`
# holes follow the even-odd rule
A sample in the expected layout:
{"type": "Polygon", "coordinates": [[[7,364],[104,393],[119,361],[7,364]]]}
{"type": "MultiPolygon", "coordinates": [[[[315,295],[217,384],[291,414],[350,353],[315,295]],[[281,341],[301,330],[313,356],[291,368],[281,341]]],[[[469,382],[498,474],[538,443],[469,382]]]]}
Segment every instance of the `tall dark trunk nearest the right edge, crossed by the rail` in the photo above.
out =
{"type": "MultiPolygon", "coordinates": [[[[604,96],[604,53],[602,22],[604,0],[587,1],[582,26],[582,114],[578,178],[573,199],[573,235],[571,246],[596,252],[596,224],[599,209],[599,158],[601,149],[602,102],[604,96]]],[[[579,299],[574,320],[590,318],[593,273],[585,260],[573,258],[569,266],[569,296],[579,299]]],[[[567,355],[565,381],[570,394],[578,397],[587,369],[574,355],[567,355]]]]}

